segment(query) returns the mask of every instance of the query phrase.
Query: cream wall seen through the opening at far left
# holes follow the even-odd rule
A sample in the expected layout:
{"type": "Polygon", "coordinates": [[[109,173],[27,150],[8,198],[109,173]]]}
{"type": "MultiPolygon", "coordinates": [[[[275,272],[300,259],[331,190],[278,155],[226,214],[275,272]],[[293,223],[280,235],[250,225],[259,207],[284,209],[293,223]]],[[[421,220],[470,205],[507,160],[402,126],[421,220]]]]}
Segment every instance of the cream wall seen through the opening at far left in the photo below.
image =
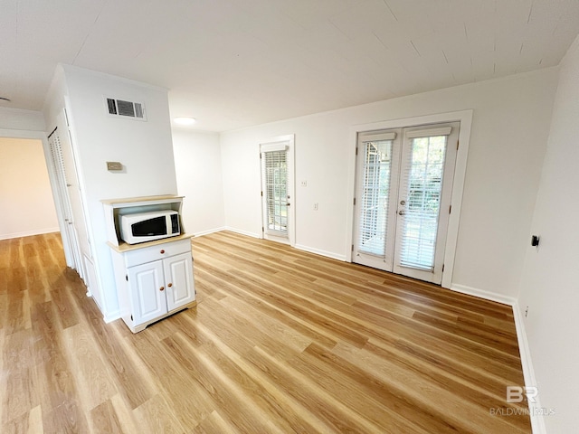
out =
{"type": "Polygon", "coordinates": [[[0,137],[0,240],[59,231],[41,140],[0,137]]]}

